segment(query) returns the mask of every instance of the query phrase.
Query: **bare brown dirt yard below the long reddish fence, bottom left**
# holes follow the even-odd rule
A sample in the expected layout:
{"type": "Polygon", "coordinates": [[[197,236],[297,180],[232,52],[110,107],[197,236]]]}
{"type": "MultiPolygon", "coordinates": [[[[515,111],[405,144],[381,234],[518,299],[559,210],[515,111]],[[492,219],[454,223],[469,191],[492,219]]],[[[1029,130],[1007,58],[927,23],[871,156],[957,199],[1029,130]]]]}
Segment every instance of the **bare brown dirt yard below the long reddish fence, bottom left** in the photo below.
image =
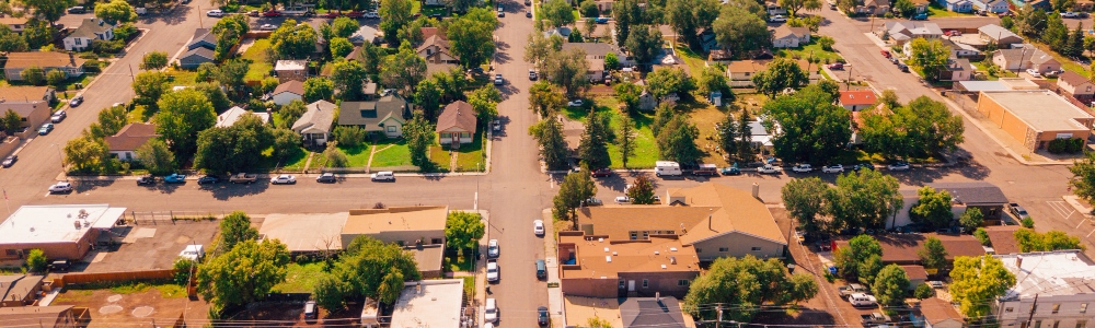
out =
{"type": "Polygon", "coordinates": [[[200,326],[209,313],[209,304],[205,301],[191,301],[186,295],[164,297],[154,288],[125,295],[111,290],[68,290],[57,295],[51,305],[91,308],[89,327],[112,327],[117,323],[151,327],[153,318],[160,318],[157,325],[163,326],[164,318],[177,318],[180,315],[200,326]]]}

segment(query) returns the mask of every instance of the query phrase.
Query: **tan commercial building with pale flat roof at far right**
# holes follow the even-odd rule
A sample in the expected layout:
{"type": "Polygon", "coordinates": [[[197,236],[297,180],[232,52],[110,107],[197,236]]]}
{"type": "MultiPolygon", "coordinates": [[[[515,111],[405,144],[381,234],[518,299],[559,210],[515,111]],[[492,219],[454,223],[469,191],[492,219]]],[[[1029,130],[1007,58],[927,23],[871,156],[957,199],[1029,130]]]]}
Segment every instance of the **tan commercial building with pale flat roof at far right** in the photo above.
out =
{"type": "Polygon", "coordinates": [[[1095,117],[1048,90],[981,92],[977,110],[1030,150],[1054,139],[1087,142],[1095,117]]]}

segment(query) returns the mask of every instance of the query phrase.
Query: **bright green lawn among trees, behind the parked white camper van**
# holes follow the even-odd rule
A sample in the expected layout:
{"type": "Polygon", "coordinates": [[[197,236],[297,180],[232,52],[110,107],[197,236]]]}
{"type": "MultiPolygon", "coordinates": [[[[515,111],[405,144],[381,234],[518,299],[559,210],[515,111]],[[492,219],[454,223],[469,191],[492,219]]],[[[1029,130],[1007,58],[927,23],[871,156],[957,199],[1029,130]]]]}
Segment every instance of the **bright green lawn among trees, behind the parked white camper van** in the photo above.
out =
{"type": "MultiPolygon", "coordinates": [[[[614,108],[618,108],[620,103],[614,97],[597,97],[593,102],[597,105],[597,113],[611,117],[609,126],[613,131],[619,131],[621,113],[614,108]]],[[[585,108],[567,107],[564,113],[570,120],[585,122],[589,112],[585,108]]],[[[654,162],[658,161],[657,140],[654,138],[654,131],[650,130],[654,115],[648,113],[632,115],[632,122],[635,125],[635,154],[627,160],[627,167],[654,167],[654,162]]],[[[615,143],[609,144],[609,159],[612,161],[612,168],[623,168],[620,147],[615,143]]]]}

